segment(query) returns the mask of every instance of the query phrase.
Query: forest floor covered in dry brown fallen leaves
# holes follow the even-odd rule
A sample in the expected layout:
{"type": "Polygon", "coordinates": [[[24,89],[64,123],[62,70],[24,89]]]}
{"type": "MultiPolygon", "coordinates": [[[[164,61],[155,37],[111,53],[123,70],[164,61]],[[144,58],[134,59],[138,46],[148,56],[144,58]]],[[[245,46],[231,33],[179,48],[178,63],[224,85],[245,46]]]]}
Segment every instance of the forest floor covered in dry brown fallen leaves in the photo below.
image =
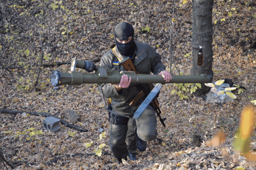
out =
{"type": "MultiPolygon", "coordinates": [[[[41,58],[44,64],[100,58],[114,43],[117,23],[128,21],[134,26],[135,38],[155,47],[169,69],[172,23],[174,61],[189,75],[191,1],[42,2],[0,2],[0,108],[22,111],[0,112],[0,153],[16,169],[256,169],[254,162],[232,148],[241,110],[256,99],[255,1],[217,0],[212,14],[214,81],[232,79],[245,91],[234,91],[237,99],[232,102],[209,103],[195,93],[182,92],[188,96],[182,100],[171,94],[173,89],[179,91],[177,86],[164,85],[159,102],[166,128],[158,122],[158,140],[148,142],[146,151],[138,152],[137,161],[128,159],[121,164],[108,146],[108,113],[97,85],[65,85],[54,90],[52,70],[67,72],[70,65],[42,66],[37,81],[41,58]],[[68,122],[63,110],[77,112],[81,121],[75,125],[88,131],[63,124],[58,132],[47,131],[42,124],[44,116],[28,114],[47,112],[68,122]],[[225,142],[209,147],[207,141],[220,130],[226,134],[225,142]],[[99,146],[102,152],[96,155],[99,146]]],[[[178,74],[174,65],[172,70],[178,74]]],[[[251,139],[251,148],[256,149],[254,133],[251,139]]],[[[0,162],[0,169],[10,168],[5,165],[0,162]]]]}

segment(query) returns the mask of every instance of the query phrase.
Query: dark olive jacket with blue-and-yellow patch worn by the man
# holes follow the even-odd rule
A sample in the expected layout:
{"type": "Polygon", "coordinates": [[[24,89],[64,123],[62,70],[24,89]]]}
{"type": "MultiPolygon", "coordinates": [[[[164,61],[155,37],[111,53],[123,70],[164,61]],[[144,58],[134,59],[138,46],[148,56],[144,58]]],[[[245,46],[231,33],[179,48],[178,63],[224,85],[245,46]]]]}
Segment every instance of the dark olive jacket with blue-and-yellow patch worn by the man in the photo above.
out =
{"type": "MultiPolygon", "coordinates": [[[[165,66],[161,62],[161,57],[156,53],[155,49],[147,43],[135,42],[136,50],[132,58],[134,67],[136,71],[140,74],[153,74],[158,75],[160,71],[165,70],[165,66]]],[[[122,56],[117,48],[115,51],[116,55],[120,59],[126,58],[122,56]]],[[[125,68],[119,64],[117,57],[114,55],[113,51],[110,50],[103,55],[100,66],[105,68],[114,68],[118,71],[124,71],[125,68]],[[114,64],[113,64],[114,62],[114,64]],[[118,63],[118,65],[116,65],[118,63]]],[[[114,111],[132,117],[132,109],[129,105],[135,96],[140,92],[140,87],[138,84],[130,84],[128,88],[123,88],[117,91],[115,85],[101,84],[102,91],[105,98],[111,98],[112,108],[114,111]]]]}

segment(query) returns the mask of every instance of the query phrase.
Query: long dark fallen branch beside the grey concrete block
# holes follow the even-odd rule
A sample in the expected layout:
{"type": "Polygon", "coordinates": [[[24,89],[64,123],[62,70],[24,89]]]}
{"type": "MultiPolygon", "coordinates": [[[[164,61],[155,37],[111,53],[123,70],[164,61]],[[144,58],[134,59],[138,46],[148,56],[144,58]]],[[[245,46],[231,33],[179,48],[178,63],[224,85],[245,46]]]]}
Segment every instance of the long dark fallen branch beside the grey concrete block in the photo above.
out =
{"type": "MultiPolygon", "coordinates": [[[[25,111],[7,110],[7,109],[3,109],[3,108],[2,108],[2,109],[0,109],[0,112],[3,112],[3,113],[11,113],[11,114],[18,114],[18,113],[21,114],[21,113],[24,113],[25,111]]],[[[45,117],[50,117],[50,116],[52,116],[52,117],[58,118],[58,117],[56,117],[56,116],[54,116],[54,115],[51,115],[51,114],[49,114],[49,113],[46,113],[46,112],[26,112],[26,113],[32,114],[32,115],[35,115],[35,116],[45,116],[45,117]]],[[[58,118],[58,119],[60,119],[60,118],[58,118]]],[[[82,127],[80,127],[80,126],[78,126],[78,125],[72,125],[72,124],[66,122],[65,120],[60,119],[60,122],[61,122],[61,124],[65,125],[66,127],[71,128],[71,129],[75,129],[75,130],[81,131],[81,132],[88,132],[87,129],[83,129],[82,127]]]]}

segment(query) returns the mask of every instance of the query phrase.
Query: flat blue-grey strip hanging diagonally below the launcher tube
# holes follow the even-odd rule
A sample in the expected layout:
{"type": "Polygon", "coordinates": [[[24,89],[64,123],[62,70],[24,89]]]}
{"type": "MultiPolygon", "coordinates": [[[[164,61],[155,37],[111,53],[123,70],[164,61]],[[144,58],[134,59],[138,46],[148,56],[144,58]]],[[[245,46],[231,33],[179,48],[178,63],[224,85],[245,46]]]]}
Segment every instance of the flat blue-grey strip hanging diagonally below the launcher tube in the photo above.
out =
{"type": "Polygon", "coordinates": [[[162,84],[157,84],[152,91],[150,92],[150,94],[147,95],[146,99],[141,103],[141,105],[139,106],[139,108],[136,110],[136,112],[133,115],[133,118],[138,118],[143,111],[146,109],[146,107],[153,101],[153,99],[156,97],[156,95],[159,93],[159,91],[162,88],[162,84]]]}

